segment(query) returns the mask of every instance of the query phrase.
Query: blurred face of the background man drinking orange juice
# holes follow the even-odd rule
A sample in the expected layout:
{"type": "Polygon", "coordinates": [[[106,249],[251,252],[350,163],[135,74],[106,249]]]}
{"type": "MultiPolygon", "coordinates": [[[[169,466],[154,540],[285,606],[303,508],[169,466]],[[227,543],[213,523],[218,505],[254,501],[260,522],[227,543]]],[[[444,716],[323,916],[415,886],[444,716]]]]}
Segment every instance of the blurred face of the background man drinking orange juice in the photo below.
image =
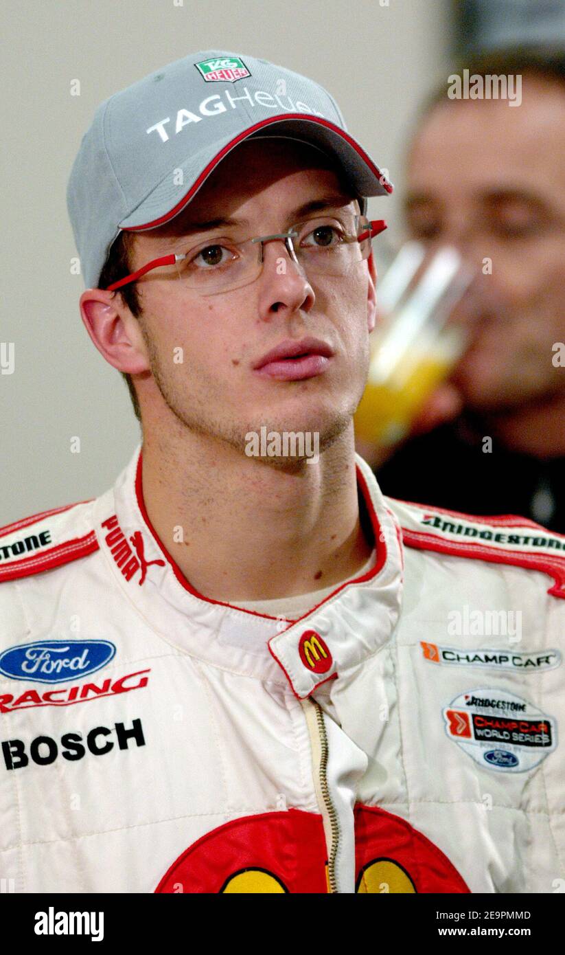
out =
{"type": "Polygon", "coordinates": [[[434,108],[408,164],[408,228],[456,244],[482,270],[473,337],[453,376],[468,407],[512,407],[565,388],[565,86],[525,76],[523,101],[434,108]]]}

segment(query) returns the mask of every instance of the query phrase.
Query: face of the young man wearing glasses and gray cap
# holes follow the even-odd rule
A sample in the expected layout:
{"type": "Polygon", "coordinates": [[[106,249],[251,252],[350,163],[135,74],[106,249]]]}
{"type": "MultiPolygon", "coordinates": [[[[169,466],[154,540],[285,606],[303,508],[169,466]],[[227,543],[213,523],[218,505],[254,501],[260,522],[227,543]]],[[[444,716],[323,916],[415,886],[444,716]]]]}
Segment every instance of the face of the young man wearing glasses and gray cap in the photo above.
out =
{"type": "MultiPolygon", "coordinates": [[[[287,230],[304,218],[359,213],[324,156],[292,140],[247,141],[220,163],[192,202],[164,228],[136,236],[133,268],[218,237],[243,241],[287,230]],[[305,203],[327,209],[300,215],[305,203]],[[191,223],[233,219],[191,232],[191,223]]],[[[187,428],[239,449],[247,432],[318,432],[323,450],[351,422],[365,388],[368,335],[374,325],[374,268],[345,276],[304,275],[282,242],[263,246],[259,278],[201,295],[174,266],[148,273],[137,289],[151,375],[138,379],[143,414],[172,411],[187,428]],[[167,276],[167,271],[169,273],[167,276]],[[371,274],[372,273],[372,274],[371,274]],[[331,351],[315,373],[292,380],[255,366],[289,340],[318,339],[331,351]],[[175,361],[178,349],[183,361],[175,361]],[[176,351],[177,350],[177,351],[176,351]]]]}

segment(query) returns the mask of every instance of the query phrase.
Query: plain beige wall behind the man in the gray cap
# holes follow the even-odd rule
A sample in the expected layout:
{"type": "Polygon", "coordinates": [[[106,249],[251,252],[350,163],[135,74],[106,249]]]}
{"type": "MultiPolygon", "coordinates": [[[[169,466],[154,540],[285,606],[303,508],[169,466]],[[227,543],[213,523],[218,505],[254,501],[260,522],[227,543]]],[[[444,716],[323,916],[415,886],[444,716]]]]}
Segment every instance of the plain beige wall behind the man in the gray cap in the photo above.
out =
{"type": "Polygon", "coordinates": [[[3,0],[0,524],[110,486],[139,440],[120,375],[80,321],[65,191],[98,103],[185,53],[251,53],[336,96],[353,136],[389,170],[372,213],[398,237],[408,122],[446,75],[445,0],[3,0]],[[73,79],[80,96],[71,96],[73,79]],[[73,436],[80,454],[71,453],[73,436]]]}

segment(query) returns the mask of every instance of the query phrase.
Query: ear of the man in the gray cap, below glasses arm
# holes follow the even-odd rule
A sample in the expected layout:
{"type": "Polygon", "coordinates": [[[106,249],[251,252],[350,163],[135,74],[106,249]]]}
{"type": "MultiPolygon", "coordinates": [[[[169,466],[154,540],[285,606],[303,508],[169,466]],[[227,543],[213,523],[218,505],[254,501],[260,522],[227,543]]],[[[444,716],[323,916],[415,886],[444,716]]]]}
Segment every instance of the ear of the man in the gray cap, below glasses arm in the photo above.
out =
{"type": "Polygon", "coordinates": [[[104,288],[87,288],[80,296],[80,314],[101,355],[118,371],[149,371],[145,340],[136,318],[121,296],[104,288]]]}

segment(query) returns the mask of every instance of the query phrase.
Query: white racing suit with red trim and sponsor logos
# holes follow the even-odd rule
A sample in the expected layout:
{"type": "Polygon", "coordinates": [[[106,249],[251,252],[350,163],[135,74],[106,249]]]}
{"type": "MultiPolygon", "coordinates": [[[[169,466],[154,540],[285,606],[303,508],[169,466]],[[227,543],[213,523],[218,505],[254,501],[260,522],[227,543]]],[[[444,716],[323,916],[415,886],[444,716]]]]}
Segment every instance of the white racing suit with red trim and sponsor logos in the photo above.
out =
{"type": "Polygon", "coordinates": [[[139,452],[3,529],[3,891],[563,891],[565,538],[357,476],[376,565],[295,622],[194,591],[139,452]]]}

